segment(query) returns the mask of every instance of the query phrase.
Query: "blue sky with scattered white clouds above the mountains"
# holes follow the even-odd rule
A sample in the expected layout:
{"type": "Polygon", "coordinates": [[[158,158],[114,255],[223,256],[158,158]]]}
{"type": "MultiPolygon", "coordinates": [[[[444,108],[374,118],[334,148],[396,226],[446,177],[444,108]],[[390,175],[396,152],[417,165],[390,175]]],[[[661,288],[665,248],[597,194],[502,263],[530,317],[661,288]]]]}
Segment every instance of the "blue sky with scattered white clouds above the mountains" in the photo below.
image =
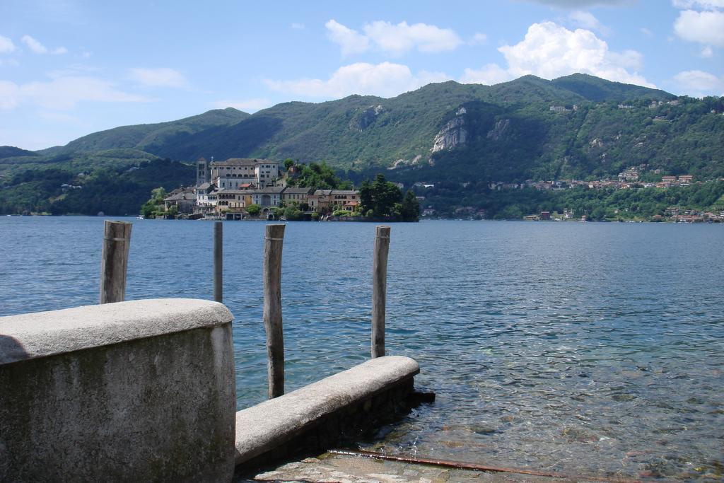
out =
{"type": "Polygon", "coordinates": [[[0,0],[0,146],[431,82],[724,96],[724,0],[0,0]]]}

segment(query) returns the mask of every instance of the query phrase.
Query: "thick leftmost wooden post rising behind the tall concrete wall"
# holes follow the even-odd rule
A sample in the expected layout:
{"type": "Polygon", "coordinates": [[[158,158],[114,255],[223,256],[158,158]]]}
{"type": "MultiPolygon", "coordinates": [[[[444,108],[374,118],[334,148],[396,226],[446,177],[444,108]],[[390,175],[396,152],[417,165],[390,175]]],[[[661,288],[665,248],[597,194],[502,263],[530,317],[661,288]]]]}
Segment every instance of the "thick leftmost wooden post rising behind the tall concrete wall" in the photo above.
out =
{"type": "Polygon", "coordinates": [[[122,302],[125,299],[131,227],[129,222],[111,222],[106,219],[101,253],[101,303],[122,302]]]}

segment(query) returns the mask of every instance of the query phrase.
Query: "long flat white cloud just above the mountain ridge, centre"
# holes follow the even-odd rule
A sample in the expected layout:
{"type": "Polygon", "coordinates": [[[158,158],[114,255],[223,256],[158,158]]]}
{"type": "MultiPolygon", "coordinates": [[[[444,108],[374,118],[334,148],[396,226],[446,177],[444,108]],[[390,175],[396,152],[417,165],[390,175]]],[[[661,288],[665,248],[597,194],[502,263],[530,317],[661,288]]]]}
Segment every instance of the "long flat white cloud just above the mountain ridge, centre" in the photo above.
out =
{"type": "Polygon", "coordinates": [[[273,91],[307,98],[341,98],[350,94],[392,97],[432,82],[450,80],[442,72],[413,74],[403,64],[359,62],[337,69],[327,80],[266,80],[273,91]]]}

